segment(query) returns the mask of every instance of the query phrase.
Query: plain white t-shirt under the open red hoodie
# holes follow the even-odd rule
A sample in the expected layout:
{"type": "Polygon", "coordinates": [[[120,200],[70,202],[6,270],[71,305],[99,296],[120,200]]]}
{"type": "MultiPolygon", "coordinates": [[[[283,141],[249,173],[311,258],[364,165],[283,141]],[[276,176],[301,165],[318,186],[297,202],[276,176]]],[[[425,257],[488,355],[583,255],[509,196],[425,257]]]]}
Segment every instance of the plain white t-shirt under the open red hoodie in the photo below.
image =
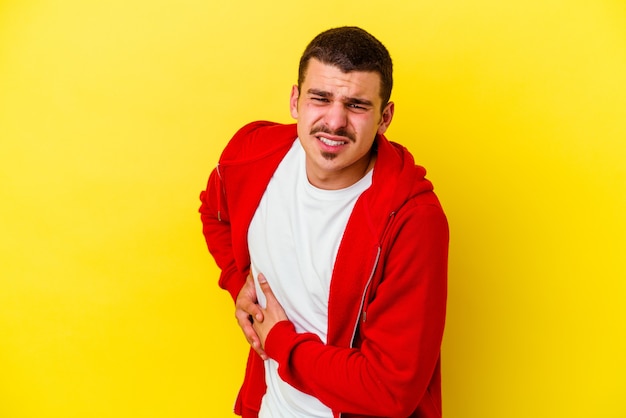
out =
{"type": "MultiPolygon", "coordinates": [[[[261,306],[265,298],[258,286],[259,273],[298,332],[315,333],[326,342],[335,257],[354,204],[371,184],[370,170],[345,189],[314,187],[296,140],[267,186],[248,230],[252,274],[261,306]]],[[[265,362],[267,392],[260,418],[332,418],[327,406],[285,383],[277,369],[274,360],[265,362]]]]}

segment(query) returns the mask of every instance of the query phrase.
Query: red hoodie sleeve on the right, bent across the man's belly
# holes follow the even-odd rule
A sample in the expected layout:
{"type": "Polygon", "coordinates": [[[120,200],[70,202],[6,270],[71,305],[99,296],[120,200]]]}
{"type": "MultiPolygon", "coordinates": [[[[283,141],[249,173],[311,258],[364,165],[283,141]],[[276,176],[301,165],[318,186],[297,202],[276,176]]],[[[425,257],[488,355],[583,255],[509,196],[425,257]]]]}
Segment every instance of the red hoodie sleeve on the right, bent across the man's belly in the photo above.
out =
{"type": "Polygon", "coordinates": [[[440,399],[428,388],[439,384],[448,225],[436,204],[406,209],[383,246],[381,280],[360,320],[357,348],[325,345],[287,321],[267,337],[266,353],[279,363],[283,380],[336,413],[440,416],[440,399]]]}

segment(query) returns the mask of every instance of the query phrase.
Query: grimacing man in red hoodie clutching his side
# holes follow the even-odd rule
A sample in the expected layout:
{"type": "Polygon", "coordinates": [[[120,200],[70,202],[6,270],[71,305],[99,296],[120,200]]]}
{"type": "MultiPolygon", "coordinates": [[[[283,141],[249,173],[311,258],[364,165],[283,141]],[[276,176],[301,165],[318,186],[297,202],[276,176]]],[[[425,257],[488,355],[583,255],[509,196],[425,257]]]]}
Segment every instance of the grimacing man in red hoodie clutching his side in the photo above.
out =
{"type": "Polygon", "coordinates": [[[384,133],[392,62],[356,27],[318,35],[295,125],[254,122],[202,192],[208,248],[251,344],[243,417],[441,417],[448,226],[384,133]]]}

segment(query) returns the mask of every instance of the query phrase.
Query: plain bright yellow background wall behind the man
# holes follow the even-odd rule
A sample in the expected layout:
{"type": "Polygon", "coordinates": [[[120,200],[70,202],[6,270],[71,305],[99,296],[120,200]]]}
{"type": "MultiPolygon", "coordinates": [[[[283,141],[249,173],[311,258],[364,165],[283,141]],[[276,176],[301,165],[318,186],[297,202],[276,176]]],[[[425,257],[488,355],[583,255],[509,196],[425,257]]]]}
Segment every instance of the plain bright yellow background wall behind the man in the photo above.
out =
{"type": "Polygon", "coordinates": [[[445,416],[626,417],[623,0],[296,3],[0,1],[0,417],[231,416],[198,194],[344,24],[449,216],[445,416]]]}

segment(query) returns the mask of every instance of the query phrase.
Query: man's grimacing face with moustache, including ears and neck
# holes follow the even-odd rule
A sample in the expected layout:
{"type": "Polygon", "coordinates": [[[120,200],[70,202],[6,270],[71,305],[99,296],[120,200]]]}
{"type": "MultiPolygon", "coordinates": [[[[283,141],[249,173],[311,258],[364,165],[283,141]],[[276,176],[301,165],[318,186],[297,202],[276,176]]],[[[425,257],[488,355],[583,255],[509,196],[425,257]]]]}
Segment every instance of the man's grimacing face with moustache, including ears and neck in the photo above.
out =
{"type": "Polygon", "coordinates": [[[381,112],[380,75],[342,72],[311,59],[301,91],[291,90],[291,115],[306,153],[309,182],[322,189],[356,183],[373,164],[376,134],[387,130],[394,105],[381,112]]]}

